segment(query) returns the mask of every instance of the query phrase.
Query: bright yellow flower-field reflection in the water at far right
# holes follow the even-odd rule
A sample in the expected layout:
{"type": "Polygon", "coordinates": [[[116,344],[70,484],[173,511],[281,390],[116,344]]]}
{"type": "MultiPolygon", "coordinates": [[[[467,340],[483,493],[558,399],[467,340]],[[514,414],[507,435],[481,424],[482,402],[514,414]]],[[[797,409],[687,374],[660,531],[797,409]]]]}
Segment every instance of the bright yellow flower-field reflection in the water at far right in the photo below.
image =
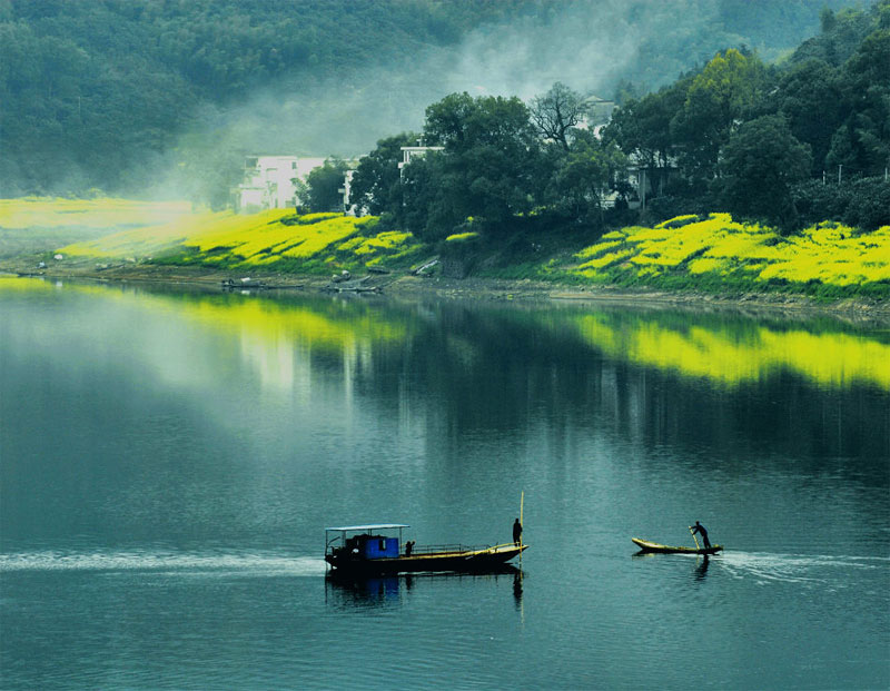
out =
{"type": "Polygon", "coordinates": [[[629,327],[603,315],[584,315],[576,323],[587,343],[612,357],[724,386],[785,369],[822,386],[859,383],[890,391],[890,344],[866,336],[768,327],[741,335],[725,327],[675,328],[643,318],[629,327]]]}

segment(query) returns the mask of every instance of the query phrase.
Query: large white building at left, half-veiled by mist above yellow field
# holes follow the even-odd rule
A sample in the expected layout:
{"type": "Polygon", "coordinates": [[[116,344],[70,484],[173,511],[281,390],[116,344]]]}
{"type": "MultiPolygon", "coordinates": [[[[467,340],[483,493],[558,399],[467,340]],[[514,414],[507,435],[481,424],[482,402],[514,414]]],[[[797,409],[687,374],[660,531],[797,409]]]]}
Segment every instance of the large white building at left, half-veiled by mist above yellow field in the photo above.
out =
{"type": "Polygon", "coordinates": [[[297,182],[323,166],[324,158],[297,156],[248,156],[244,181],[235,190],[235,207],[240,213],[284,209],[300,204],[297,182]]]}

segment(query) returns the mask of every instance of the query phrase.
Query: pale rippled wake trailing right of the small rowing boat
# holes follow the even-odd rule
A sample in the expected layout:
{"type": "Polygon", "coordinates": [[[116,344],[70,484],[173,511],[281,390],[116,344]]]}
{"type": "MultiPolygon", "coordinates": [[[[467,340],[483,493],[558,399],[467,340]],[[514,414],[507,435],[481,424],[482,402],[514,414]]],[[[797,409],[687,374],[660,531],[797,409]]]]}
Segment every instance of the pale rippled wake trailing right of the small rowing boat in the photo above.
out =
{"type": "Polygon", "coordinates": [[[728,551],[721,556],[720,564],[738,579],[754,578],[762,583],[823,583],[837,582],[837,574],[843,571],[887,570],[890,559],[728,551]]]}

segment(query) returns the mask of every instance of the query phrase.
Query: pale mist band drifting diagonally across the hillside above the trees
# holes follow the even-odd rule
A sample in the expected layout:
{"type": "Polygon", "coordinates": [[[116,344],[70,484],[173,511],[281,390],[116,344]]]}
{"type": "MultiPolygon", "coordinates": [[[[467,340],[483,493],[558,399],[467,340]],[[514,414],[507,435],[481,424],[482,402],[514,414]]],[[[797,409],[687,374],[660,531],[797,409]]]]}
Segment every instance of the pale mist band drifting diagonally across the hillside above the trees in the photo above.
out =
{"type": "MultiPolygon", "coordinates": [[[[804,38],[805,29],[818,30],[818,11],[824,3],[810,3],[811,21],[805,29],[789,26],[781,46],[752,43],[726,28],[721,4],[540,3],[540,11],[483,24],[454,46],[429,46],[405,60],[323,80],[285,79],[224,112],[214,109],[210,121],[216,120],[216,127],[221,122],[233,141],[248,149],[355,156],[382,137],[419,130],[425,108],[455,91],[528,100],[562,81],[611,99],[622,80],[641,90],[657,88],[726,47],[746,45],[774,58],[804,38]]],[[[746,11],[756,13],[764,3],[749,4],[746,11]]]]}

